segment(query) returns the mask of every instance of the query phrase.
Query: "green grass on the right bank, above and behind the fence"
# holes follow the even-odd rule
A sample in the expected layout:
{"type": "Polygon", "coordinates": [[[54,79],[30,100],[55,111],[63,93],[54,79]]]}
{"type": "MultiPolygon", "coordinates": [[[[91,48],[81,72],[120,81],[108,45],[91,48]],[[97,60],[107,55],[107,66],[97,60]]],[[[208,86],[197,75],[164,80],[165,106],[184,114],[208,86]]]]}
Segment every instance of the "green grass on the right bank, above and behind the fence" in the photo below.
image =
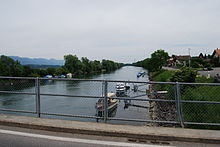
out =
{"type": "MultiPolygon", "coordinates": [[[[153,73],[153,80],[169,82],[175,71],[161,70],[153,73]]],[[[198,76],[195,83],[214,83],[214,78],[198,76]]],[[[174,93],[172,85],[156,84],[156,90],[167,90],[174,93]]],[[[220,86],[208,85],[181,85],[181,99],[190,101],[220,101],[220,86]]],[[[186,122],[220,123],[220,104],[182,103],[183,119],[186,122]]],[[[189,128],[220,129],[219,126],[188,125],[189,128]]]]}

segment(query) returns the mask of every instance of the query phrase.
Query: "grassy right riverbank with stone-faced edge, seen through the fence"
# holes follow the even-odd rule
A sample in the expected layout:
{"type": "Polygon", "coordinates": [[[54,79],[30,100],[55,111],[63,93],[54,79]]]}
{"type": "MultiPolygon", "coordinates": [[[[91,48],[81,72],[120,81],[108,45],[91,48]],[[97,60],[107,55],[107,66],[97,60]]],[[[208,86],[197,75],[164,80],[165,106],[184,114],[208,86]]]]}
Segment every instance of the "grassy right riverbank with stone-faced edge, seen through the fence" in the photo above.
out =
{"type": "MultiPolygon", "coordinates": [[[[153,79],[162,82],[170,82],[175,71],[162,70],[153,74],[153,79]]],[[[184,77],[181,77],[184,79],[184,77]]],[[[199,122],[199,123],[219,123],[219,109],[220,101],[217,95],[220,91],[220,86],[213,83],[213,78],[196,76],[193,84],[179,85],[179,99],[188,101],[188,103],[180,102],[182,117],[185,122],[199,122]],[[210,83],[210,84],[195,84],[195,83],[210,83]],[[205,101],[205,102],[204,102],[205,101]],[[201,103],[203,102],[203,103],[201,103]],[[215,102],[217,102],[215,104],[215,102]]],[[[168,91],[165,96],[160,96],[158,99],[176,100],[175,85],[169,84],[152,86],[152,92],[155,91],[168,91]]],[[[157,98],[157,96],[151,97],[157,98]]],[[[150,102],[151,116],[153,120],[161,121],[175,121],[177,115],[177,105],[175,102],[150,102]]],[[[160,124],[159,124],[160,125],[160,124]]],[[[219,129],[219,126],[206,126],[206,125],[186,125],[189,128],[203,128],[203,129],[219,129]]]]}

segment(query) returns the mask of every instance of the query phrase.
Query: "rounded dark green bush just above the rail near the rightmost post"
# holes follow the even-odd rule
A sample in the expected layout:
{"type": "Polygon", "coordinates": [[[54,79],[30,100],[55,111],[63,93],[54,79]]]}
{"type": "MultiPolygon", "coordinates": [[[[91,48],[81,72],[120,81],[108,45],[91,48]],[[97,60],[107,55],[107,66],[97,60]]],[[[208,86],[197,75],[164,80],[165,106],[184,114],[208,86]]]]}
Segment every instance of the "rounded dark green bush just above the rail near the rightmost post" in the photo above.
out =
{"type": "Polygon", "coordinates": [[[192,68],[183,67],[172,76],[172,82],[195,82],[197,72],[192,68]]]}

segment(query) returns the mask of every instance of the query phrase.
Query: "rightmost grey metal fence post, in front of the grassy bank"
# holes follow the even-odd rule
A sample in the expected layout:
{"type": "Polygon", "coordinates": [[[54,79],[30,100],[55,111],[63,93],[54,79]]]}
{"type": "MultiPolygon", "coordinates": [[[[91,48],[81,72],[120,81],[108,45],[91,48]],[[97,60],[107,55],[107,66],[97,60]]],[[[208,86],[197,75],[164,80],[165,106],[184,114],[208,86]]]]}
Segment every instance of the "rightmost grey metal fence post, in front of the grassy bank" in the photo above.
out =
{"type": "Polygon", "coordinates": [[[181,100],[181,93],[180,93],[180,85],[178,82],[176,82],[176,93],[175,93],[175,97],[176,97],[176,111],[177,111],[177,116],[180,122],[180,126],[182,128],[184,128],[184,122],[183,122],[183,115],[182,115],[182,107],[180,104],[180,100],[181,100]]]}

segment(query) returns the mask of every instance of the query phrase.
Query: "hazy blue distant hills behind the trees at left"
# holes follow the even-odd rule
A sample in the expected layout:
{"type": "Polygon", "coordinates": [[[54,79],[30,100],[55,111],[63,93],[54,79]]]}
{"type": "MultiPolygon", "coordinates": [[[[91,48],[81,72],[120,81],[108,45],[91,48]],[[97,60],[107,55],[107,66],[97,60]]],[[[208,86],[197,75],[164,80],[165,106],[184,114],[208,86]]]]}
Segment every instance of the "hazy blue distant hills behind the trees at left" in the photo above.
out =
{"type": "Polygon", "coordinates": [[[64,60],[44,59],[44,58],[27,58],[19,56],[9,56],[14,60],[18,60],[22,65],[64,65],[64,60]]]}

